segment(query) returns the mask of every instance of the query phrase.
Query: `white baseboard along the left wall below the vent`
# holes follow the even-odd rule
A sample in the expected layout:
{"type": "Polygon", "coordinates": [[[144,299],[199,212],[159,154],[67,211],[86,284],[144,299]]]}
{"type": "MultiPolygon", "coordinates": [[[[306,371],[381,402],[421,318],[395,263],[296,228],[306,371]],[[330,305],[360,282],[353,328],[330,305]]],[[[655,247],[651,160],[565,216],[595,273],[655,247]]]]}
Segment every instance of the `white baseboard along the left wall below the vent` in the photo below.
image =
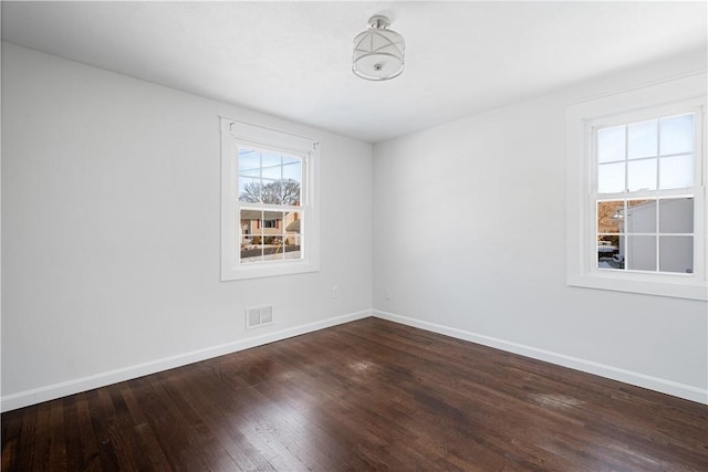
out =
{"type": "Polygon", "coordinates": [[[105,387],[107,385],[131,380],[145,375],[173,369],[175,367],[186,366],[188,364],[198,363],[200,360],[210,359],[212,357],[223,356],[226,354],[231,354],[243,349],[250,349],[251,347],[262,346],[264,344],[287,339],[293,336],[300,336],[302,334],[312,333],[319,329],[353,322],[361,318],[366,318],[368,316],[372,316],[372,312],[368,310],[350,313],[347,315],[336,316],[315,323],[308,323],[274,333],[268,333],[260,336],[240,339],[233,343],[221,344],[218,346],[192,350],[185,354],[178,354],[176,356],[165,357],[135,366],[124,367],[106,373],[96,374],[93,376],[81,377],[60,384],[49,385],[32,390],[8,395],[0,399],[0,411],[4,412],[18,408],[29,407],[30,405],[37,405],[43,401],[65,397],[67,395],[74,395],[94,388],[105,387]]]}

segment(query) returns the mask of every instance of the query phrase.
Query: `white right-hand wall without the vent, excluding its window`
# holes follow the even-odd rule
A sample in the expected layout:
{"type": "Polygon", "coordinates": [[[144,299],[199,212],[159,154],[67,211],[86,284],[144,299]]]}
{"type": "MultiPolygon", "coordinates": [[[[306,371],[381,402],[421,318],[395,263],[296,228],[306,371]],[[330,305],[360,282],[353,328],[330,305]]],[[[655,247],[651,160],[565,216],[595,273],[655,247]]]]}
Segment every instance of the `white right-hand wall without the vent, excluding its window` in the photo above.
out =
{"type": "Polygon", "coordinates": [[[565,284],[566,105],[705,67],[674,57],[375,145],[375,314],[708,401],[708,304],[565,284]]]}

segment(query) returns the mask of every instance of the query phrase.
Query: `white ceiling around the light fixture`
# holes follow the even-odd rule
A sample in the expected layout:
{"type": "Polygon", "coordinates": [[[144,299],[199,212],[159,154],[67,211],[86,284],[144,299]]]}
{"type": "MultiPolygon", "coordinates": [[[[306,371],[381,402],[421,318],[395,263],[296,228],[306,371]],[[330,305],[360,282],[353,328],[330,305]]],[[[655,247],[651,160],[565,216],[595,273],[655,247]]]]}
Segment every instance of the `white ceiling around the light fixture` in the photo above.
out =
{"type": "Polygon", "coordinates": [[[2,39],[376,143],[612,71],[706,51],[698,2],[2,2],[2,39]],[[373,14],[406,40],[351,72],[373,14]]]}

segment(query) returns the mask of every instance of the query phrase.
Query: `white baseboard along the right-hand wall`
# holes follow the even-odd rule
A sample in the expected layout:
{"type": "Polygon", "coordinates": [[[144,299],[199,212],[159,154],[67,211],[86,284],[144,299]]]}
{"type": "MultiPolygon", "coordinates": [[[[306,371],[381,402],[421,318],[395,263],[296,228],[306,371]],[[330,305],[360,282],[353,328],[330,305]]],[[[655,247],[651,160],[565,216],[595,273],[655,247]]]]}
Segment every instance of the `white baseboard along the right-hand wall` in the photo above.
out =
{"type": "Polygon", "coordinates": [[[607,366],[592,360],[581,359],[577,357],[566,356],[564,354],[553,353],[550,350],[539,349],[523,344],[512,343],[504,339],[498,339],[481,334],[466,332],[448,326],[438,325],[435,323],[424,322],[420,319],[408,318],[406,316],[396,315],[394,313],[382,312],[373,310],[372,314],[378,318],[387,319],[394,323],[400,323],[403,325],[426,329],[433,333],[442,334],[446,336],[455,337],[458,339],[469,340],[471,343],[481,344],[483,346],[493,347],[497,349],[506,350],[513,354],[520,354],[525,357],[531,357],[546,363],[560,365],[563,367],[570,367],[575,370],[581,370],[587,374],[594,374],[601,377],[606,377],[613,380],[618,380],[625,384],[634,385],[637,387],[647,388],[649,390],[659,391],[662,394],[671,395],[674,397],[684,398],[686,400],[697,401],[699,403],[708,403],[708,390],[693,387],[689,385],[678,384],[673,380],[652,377],[644,374],[633,373],[631,370],[621,369],[613,366],[607,366]]]}

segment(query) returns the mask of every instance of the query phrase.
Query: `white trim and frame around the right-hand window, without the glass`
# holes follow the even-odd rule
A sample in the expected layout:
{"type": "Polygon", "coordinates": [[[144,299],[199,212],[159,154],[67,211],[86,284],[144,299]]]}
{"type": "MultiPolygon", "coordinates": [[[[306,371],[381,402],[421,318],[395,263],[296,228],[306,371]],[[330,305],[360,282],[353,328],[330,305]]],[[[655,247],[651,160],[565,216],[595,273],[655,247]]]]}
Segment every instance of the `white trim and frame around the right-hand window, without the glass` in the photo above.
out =
{"type": "MultiPolygon", "coordinates": [[[[708,301],[708,218],[706,218],[706,73],[572,104],[566,109],[566,283],[571,286],[708,301]],[[690,105],[690,106],[689,106],[690,105]],[[642,120],[642,116],[697,109],[700,136],[695,164],[695,273],[607,271],[596,265],[596,208],[591,198],[595,177],[593,127],[642,120]],[[637,118],[638,119],[635,119],[637,118]]],[[[625,195],[627,197],[628,195],[625,195]]]]}

